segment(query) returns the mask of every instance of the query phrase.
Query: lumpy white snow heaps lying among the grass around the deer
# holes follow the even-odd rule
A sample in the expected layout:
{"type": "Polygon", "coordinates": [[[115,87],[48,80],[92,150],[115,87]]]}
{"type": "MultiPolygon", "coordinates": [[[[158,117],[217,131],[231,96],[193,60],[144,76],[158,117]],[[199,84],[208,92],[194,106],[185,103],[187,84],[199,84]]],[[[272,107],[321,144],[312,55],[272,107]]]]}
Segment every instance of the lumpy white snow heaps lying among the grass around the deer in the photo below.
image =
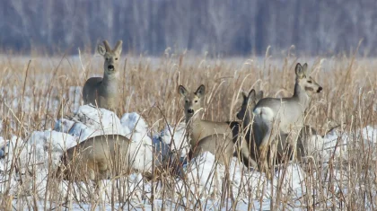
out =
{"type": "MultiPolygon", "coordinates": [[[[46,180],[48,169],[56,169],[60,157],[66,149],[77,145],[90,136],[121,134],[129,137],[131,139],[130,152],[136,153],[136,161],[132,165],[135,170],[140,171],[152,171],[153,161],[156,166],[166,164],[172,154],[179,154],[181,161],[183,161],[183,158],[189,152],[189,145],[184,136],[184,123],[177,126],[166,126],[161,132],[153,134],[145,120],[137,113],[126,113],[121,119],[118,119],[109,110],[97,110],[88,105],[82,106],[76,111],[76,115],[72,119],[58,119],[53,130],[34,131],[26,141],[16,136],[6,141],[3,137],[0,137],[2,148],[0,155],[7,154],[4,159],[0,160],[0,171],[4,172],[0,175],[0,192],[3,192],[6,188],[1,184],[5,180],[10,180],[10,193],[13,195],[20,194],[20,191],[31,192],[32,189],[37,189],[36,192],[40,197],[43,197],[48,182],[46,180]],[[11,178],[8,178],[14,157],[20,158],[20,166],[18,172],[13,172],[11,178]],[[35,175],[33,178],[29,177],[33,181],[31,182],[31,179],[22,180],[21,189],[22,175],[28,173],[35,175]],[[37,188],[35,184],[38,184],[37,188]]],[[[313,147],[315,147],[313,156],[319,156],[323,163],[326,163],[333,155],[346,158],[347,142],[351,138],[355,139],[355,136],[372,147],[377,143],[377,129],[373,127],[364,127],[364,129],[355,133],[341,135],[338,130],[333,130],[323,138],[321,136],[312,138],[312,141],[315,142],[313,144],[313,147]]],[[[219,207],[219,198],[222,196],[221,187],[226,175],[224,172],[224,166],[215,162],[215,156],[205,152],[183,165],[180,175],[172,182],[174,184],[171,187],[172,192],[175,196],[181,196],[189,189],[192,195],[183,198],[187,200],[211,198],[210,202],[203,207],[219,207]]],[[[304,178],[305,171],[299,164],[289,164],[286,168],[278,168],[274,180],[271,182],[267,180],[263,173],[245,169],[236,158],[232,159],[229,172],[232,196],[240,198],[236,205],[237,209],[240,210],[247,209],[250,202],[252,203],[251,207],[269,209],[270,200],[274,196],[273,192],[276,192],[277,189],[283,195],[292,196],[294,204],[306,193],[304,178]]],[[[120,180],[122,179],[117,179],[116,182],[120,182],[120,180]]],[[[111,192],[113,191],[112,182],[111,180],[104,181],[105,190],[102,197],[105,198],[108,205],[110,201],[109,193],[115,194],[111,192]]],[[[144,208],[149,209],[152,205],[145,205],[145,201],[140,198],[151,198],[153,187],[155,189],[159,186],[161,186],[161,183],[143,180],[141,173],[133,173],[127,177],[127,185],[123,187],[122,191],[132,192],[129,203],[142,210],[144,208]]],[[[67,193],[67,182],[61,182],[58,187],[61,193],[69,194],[67,193]]],[[[78,189],[78,185],[75,184],[74,188],[78,189]]],[[[158,194],[154,196],[153,206],[155,207],[181,206],[177,201],[163,202],[161,198],[156,198],[156,196],[158,194]]],[[[44,207],[45,204],[40,203],[38,206],[44,207]]],[[[74,208],[79,207],[77,204],[72,206],[74,208]]],[[[87,207],[89,205],[83,203],[80,206],[87,207]]],[[[107,209],[110,210],[110,205],[107,209]]]]}

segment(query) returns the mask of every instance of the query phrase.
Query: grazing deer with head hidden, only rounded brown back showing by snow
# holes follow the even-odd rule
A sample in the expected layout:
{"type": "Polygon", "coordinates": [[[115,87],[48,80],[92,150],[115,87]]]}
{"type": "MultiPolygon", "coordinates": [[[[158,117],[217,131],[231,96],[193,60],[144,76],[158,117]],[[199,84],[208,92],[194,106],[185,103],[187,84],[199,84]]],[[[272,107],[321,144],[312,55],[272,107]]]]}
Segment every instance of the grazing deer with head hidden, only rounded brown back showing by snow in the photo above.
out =
{"type": "Polygon", "coordinates": [[[129,170],[129,139],[121,135],[90,137],[62,156],[57,176],[64,180],[107,180],[129,170]]]}

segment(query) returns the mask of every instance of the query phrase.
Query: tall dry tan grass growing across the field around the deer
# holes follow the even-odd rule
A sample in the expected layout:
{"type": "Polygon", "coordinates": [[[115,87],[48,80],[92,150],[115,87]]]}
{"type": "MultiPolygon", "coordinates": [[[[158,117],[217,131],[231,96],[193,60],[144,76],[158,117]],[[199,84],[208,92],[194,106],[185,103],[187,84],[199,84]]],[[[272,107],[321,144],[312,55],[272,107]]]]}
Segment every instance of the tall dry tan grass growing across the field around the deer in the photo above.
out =
{"type": "MultiPolygon", "coordinates": [[[[352,56],[326,59],[293,56],[213,59],[169,53],[160,58],[123,58],[119,87],[123,100],[121,113],[140,113],[148,125],[153,126],[151,131],[154,133],[165,127],[166,122],[175,125],[183,118],[182,103],[177,92],[179,84],[190,90],[196,89],[199,84],[206,85],[205,119],[234,120],[241,102],[241,89],[262,89],[265,96],[292,94],[294,65],[297,61],[308,62],[309,68],[315,69],[313,74],[316,81],[324,88],[322,93],[311,100],[306,119],[311,127],[323,134],[329,129],[329,122],[341,124],[341,133],[357,132],[366,126],[376,125],[377,59],[352,56]]],[[[56,119],[71,116],[78,99],[73,97],[70,87],[82,86],[89,76],[102,75],[102,62],[101,57],[92,55],[80,58],[0,57],[0,117],[3,121],[0,136],[10,138],[14,135],[27,140],[32,131],[52,128],[56,119]]],[[[299,205],[297,202],[292,204],[291,195],[276,191],[271,197],[271,208],[279,205],[280,208],[302,207],[309,210],[376,209],[374,146],[365,145],[361,137],[356,136],[351,137],[347,145],[346,152],[342,152],[346,159],[330,159],[325,167],[311,163],[308,167],[311,168],[311,173],[305,174],[306,177],[303,178],[307,194],[297,199],[299,205]]],[[[17,160],[18,158],[13,158],[10,161],[11,171],[3,173],[10,177],[17,172],[17,160]]],[[[39,203],[46,209],[48,206],[66,207],[68,199],[54,191],[59,185],[52,167],[48,171],[48,178],[45,179],[48,191],[39,191],[38,181],[33,180],[36,172],[29,171],[26,172],[27,175],[20,176],[20,191],[12,193],[10,197],[2,197],[0,207],[9,208],[12,198],[19,198],[18,202],[13,203],[13,208],[16,209],[33,209],[39,207],[39,203]]],[[[132,208],[126,203],[127,199],[140,196],[141,203],[161,199],[163,204],[168,205],[173,200],[172,202],[183,207],[200,209],[213,198],[207,196],[202,200],[185,200],[189,196],[188,189],[183,189],[177,196],[172,188],[175,186],[174,177],[170,170],[160,170],[158,177],[154,175],[153,180],[156,182],[153,184],[158,188],[152,187],[153,194],[146,194],[147,190],[122,187],[127,186],[127,182],[117,181],[111,186],[114,191],[109,195],[111,206],[120,203],[125,208],[132,208]]],[[[11,194],[9,180],[0,186],[4,196],[11,194]]],[[[230,189],[226,188],[225,183],[224,187],[230,189]]],[[[95,196],[86,193],[84,188],[71,191],[78,191],[80,195],[74,194],[74,202],[91,205],[97,203],[95,196]]],[[[242,198],[241,195],[230,196],[229,193],[224,197],[231,198],[233,206],[242,198]]],[[[259,208],[252,206],[254,199],[262,200],[259,196],[250,196],[246,202],[251,202],[251,210],[259,208]]],[[[229,205],[225,207],[234,208],[229,205]]]]}

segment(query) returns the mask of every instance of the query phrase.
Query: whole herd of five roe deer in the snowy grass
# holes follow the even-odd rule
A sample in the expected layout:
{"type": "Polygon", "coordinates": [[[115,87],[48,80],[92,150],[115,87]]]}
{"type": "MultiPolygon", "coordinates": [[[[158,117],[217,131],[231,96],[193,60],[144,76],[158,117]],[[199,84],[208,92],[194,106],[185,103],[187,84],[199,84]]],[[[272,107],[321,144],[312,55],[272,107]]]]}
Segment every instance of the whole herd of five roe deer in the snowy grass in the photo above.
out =
{"type": "MultiPolygon", "coordinates": [[[[89,78],[83,85],[83,102],[107,110],[116,110],[118,100],[119,57],[122,41],[111,49],[107,40],[98,45],[98,53],[104,57],[103,77],[89,78]]],[[[216,122],[201,119],[206,87],[200,85],[191,92],[183,85],[178,92],[184,100],[186,133],[189,141],[189,159],[202,152],[215,154],[215,160],[229,166],[237,156],[248,168],[258,169],[271,178],[271,166],[286,160],[301,161],[306,156],[305,139],[316,131],[304,125],[304,112],[311,96],[322,90],[311,78],[308,65],[295,66],[294,95],[289,98],[264,98],[263,92],[242,92],[239,121],[216,122]]],[[[130,140],[121,135],[91,137],[67,150],[59,167],[66,180],[108,179],[125,174],[130,140]],[[122,163],[123,168],[119,168],[122,163]],[[82,173],[75,173],[82,172],[82,173]]]]}

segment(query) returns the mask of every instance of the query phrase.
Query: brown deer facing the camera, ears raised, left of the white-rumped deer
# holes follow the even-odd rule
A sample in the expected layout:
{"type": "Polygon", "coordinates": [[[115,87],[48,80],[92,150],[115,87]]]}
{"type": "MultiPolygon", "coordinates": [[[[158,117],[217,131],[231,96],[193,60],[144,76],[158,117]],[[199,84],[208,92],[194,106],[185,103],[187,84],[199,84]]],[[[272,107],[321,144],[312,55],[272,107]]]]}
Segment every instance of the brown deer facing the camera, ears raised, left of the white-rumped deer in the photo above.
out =
{"type": "MultiPolygon", "coordinates": [[[[187,135],[189,136],[189,158],[201,152],[215,154],[219,163],[229,166],[234,152],[234,144],[239,139],[240,124],[238,122],[215,122],[200,119],[199,111],[203,108],[205,86],[200,85],[196,92],[188,92],[182,85],[180,94],[185,99],[185,116],[187,135]]],[[[245,158],[247,160],[248,158],[245,158]]],[[[249,161],[247,161],[249,163],[249,161]]]]}

